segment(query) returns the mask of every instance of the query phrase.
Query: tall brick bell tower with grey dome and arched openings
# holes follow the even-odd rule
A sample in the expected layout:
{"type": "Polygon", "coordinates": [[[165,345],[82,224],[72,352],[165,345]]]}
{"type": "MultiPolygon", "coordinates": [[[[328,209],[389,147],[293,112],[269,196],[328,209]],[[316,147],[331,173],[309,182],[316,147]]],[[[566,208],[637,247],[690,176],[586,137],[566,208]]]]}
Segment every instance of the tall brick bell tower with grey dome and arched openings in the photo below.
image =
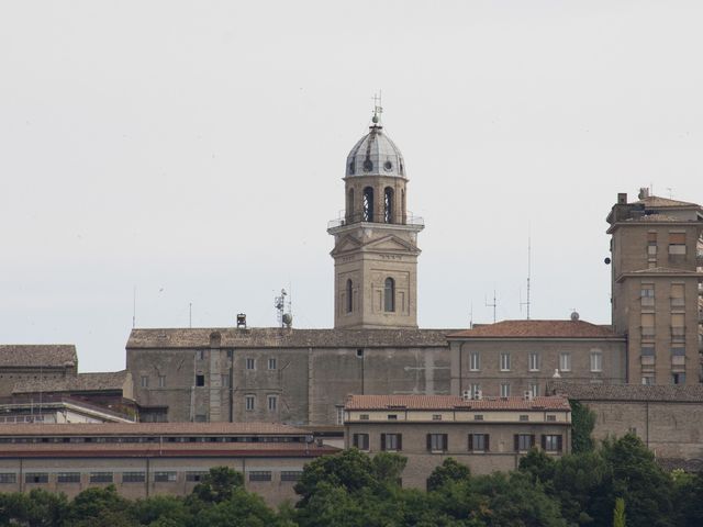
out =
{"type": "Polygon", "coordinates": [[[330,222],[334,236],[334,327],[417,327],[420,217],[405,208],[403,156],[386,135],[380,105],[369,133],[347,156],[346,210],[330,222]]]}

